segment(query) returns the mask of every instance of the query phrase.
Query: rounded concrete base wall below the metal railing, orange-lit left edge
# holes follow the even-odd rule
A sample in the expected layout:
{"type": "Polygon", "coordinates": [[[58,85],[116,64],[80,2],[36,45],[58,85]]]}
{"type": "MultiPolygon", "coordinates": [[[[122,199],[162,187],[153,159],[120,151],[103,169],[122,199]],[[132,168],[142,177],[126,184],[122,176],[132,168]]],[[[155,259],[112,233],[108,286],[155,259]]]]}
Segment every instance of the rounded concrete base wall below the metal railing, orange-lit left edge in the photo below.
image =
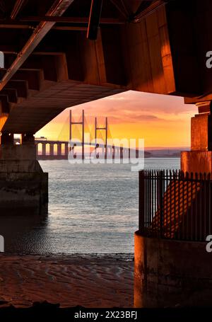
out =
{"type": "Polygon", "coordinates": [[[212,306],[212,253],[206,243],[135,233],[135,307],[212,306]]]}

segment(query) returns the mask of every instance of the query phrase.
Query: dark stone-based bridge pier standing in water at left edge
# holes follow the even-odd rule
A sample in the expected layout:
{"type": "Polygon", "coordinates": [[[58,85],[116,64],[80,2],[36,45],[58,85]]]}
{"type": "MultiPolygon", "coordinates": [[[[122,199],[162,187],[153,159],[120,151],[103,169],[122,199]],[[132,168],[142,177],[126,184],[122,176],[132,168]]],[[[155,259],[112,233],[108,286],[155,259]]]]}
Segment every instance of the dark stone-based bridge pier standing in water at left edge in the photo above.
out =
{"type": "Polygon", "coordinates": [[[21,142],[1,135],[0,215],[47,214],[48,174],[36,160],[33,134],[22,135],[21,142]]]}

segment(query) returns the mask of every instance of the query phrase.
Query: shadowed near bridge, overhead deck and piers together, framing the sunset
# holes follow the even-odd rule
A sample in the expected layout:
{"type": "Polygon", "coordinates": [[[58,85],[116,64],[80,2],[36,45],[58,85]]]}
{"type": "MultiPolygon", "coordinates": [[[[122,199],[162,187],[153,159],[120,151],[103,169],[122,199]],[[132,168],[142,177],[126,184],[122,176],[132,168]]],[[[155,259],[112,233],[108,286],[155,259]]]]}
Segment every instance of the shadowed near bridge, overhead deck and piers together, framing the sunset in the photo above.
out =
{"type": "MultiPolygon", "coordinates": [[[[35,132],[65,108],[128,90],[196,104],[181,170],[212,172],[211,0],[105,0],[102,8],[87,0],[0,3],[1,213],[47,213],[47,173],[36,160],[35,132]],[[20,145],[13,134],[21,134],[20,145]]],[[[205,243],[155,240],[142,231],[135,238],[135,306],[208,303],[212,259],[205,243]]]]}

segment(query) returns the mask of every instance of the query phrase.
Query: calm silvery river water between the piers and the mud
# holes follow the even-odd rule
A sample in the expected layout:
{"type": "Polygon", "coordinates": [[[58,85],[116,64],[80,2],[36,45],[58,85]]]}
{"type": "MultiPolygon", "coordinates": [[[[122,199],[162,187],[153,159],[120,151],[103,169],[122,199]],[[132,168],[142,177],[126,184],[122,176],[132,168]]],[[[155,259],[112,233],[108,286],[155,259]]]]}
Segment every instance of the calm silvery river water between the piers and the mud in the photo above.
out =
{"type": "MultiPolygon", "coordinates": [[[[49,214],[1,217],[11,253],[132,253],[138,228],[138,173],[128,164],[40,161],[49,173],[49,214]]],[[[179,159],[146,159],[146,168],[179,168],[179,159]]]]}

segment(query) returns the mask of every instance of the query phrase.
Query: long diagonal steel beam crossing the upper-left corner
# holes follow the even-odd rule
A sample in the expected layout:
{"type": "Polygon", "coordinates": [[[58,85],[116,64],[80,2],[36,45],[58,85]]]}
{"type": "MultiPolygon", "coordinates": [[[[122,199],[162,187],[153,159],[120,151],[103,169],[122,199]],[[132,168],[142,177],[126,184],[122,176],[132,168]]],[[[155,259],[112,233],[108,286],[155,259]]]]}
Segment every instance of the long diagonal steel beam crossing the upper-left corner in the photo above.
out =
{"type": "MultiPolygon", "coordinates": [[[[47,16],[61,16],[73,0],[56,0],[53,6],[47,12],[47,16]]],[[[55,21],[42,21],[35,28],[33,35],[30,37],[28,42],[26,42],[23,49],[18,53],[18,56],[14,60],[11,67],[6,71],[6,74],[0,81],[0,91],[6,83],[11,79],[11,77],[18,71],[20,66],[25,62],[25,60],[30,56],[35,47],[40,43],[40,41],[45,37],[49,30],[53,27],[55,21]]]]}

